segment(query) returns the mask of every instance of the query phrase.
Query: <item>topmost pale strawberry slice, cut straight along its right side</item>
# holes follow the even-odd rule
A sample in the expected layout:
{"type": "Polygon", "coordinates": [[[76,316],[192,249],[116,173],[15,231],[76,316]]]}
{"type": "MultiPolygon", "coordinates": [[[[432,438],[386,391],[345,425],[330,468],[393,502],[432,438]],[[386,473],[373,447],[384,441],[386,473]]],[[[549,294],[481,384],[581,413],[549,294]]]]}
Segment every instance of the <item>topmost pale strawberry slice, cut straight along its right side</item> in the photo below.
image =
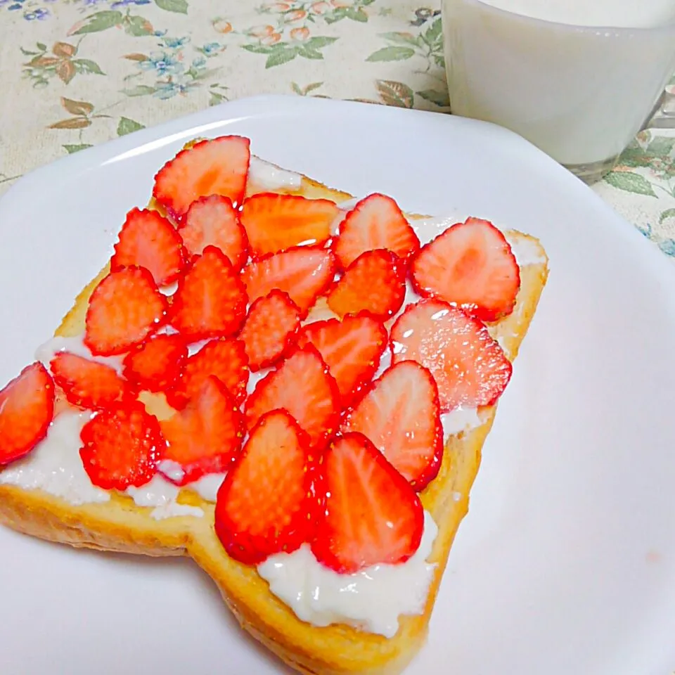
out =
{"type": "Polygon", "coordinates": [[[246,188],[250,156],[250,141],[241,136],[221,136],[195,143],[159,170],[153,197],[177,221],[200,197],[223,195],[239,205],[246,188]]]}

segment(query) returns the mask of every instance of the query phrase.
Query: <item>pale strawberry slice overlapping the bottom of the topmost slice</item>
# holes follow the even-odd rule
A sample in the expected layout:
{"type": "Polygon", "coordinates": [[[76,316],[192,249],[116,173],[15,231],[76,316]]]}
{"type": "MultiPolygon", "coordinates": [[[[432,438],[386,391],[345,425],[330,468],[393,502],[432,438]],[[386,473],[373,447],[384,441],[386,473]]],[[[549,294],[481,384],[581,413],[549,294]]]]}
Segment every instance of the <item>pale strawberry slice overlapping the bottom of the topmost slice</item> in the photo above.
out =
{"type": "Polygon", "coordinates": [[[193,202],[180,233],[191,255],[201,255],[207,246],[215,246],[229,257],[236,271],[248,258],[246,231],[228,197],[210,195],[193,202]]]}

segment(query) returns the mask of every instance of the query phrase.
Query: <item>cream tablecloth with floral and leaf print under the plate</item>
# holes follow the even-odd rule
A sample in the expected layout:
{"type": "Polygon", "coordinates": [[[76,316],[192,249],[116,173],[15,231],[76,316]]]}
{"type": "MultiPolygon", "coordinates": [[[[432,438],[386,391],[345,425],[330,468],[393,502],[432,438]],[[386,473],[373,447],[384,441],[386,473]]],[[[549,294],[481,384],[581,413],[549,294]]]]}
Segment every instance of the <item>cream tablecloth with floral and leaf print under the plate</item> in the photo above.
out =
{"type": "MultiPolygon", "coordinates": [[[[438,0],[0,0],[0,78],[0,192],[252,94],[449,110],[438,0]]],[[[675,259],[674,146],[643,131],[593,189],[675,259]]]]}

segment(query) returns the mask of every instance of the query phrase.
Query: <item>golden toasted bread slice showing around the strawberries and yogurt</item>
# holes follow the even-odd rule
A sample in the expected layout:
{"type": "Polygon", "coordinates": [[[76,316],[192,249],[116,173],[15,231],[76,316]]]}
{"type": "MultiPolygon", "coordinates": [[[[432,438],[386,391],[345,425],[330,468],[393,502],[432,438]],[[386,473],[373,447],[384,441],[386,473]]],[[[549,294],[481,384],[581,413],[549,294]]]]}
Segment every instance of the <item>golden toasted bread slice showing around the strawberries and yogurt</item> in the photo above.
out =
{"type": "MultiPolygon", "coordinates": [[[[249,191],[263,188],[253,185],[249,191]]],[[[352,195],[326,188],[304,176],[299,188],[275,191],[327,198],[337,203],[352,199],[352,195]]],[[[493,337],[499,339],[513,361],[546,284],[548,262],[538,240],[516,231],[506,235],[515,248],[524,246],[531,254],[524,261],[529,264],[521,265],[521,288],[513,314],[490,326],[493,337]]],[[[89,295],[105,274],[107,269],[82,290],[56,335],[83,333],[89,295]]],[[[146,405],[158,416],[165,414],[161,397],[146,405]]],[[[439,528],[428,558],[437,567],[423,614],[399,617],[399,631],[393,638],[342,624],[317,628],[302,622],[269,591],[255,567],[237,563],[226,555],[214,534],[214,505],[189,489],[181,491],[178,501],[202,509],[202,518],[179,515],[155,520],[150,515],[152,508],[136,506],[131,498],[120,494],[111,494],[110,501],[105,503],[72,506],[41,489],[0,484],[0,522],[25,534],[76,547],[155,556],[187,555],[212,577],[243,628],[297,671],[316,675],[393,675],[406,667],[425,642],[446,560],[468,510],[469,492],[495,411],[496,406],[484,409],[482,425],[449,438],[438,476],[420,495],[424,508],[439,528]]]]}

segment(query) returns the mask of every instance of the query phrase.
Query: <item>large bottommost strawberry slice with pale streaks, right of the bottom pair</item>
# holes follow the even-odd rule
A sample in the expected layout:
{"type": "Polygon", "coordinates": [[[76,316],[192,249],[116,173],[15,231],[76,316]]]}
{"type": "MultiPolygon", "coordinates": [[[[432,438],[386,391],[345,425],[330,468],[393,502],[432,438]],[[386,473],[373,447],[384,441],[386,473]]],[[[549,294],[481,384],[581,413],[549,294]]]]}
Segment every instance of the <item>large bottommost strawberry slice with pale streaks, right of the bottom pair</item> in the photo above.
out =
{"type": "Polygon", "coordinates": [[[311,551],[338,574],[398,565],[417,551],[424,510],[406,479],[362,434],[336,439],[323,456],[326,508],[311,551]]]}

